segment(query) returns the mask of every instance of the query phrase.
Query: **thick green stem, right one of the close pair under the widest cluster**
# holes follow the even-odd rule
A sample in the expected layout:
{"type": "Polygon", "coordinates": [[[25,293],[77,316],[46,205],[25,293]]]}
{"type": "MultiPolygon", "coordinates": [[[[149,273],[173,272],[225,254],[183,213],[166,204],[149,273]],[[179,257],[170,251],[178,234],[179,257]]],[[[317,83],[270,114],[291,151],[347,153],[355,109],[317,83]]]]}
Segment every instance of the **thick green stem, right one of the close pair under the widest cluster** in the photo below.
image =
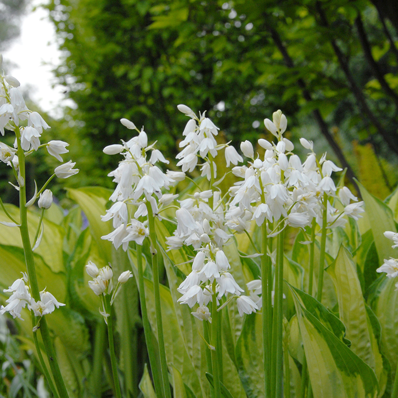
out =
{"type": "Polygon", "coordinates": [[[283,385],[283,262],[284,262],[284,234],[285,230],[281,226],[281,232],[278,235],[278,279],[276,280],[275,298],[277,314],[277,335],[276,335],[276,388],[275,397],[282,398],[283,385]]]}

